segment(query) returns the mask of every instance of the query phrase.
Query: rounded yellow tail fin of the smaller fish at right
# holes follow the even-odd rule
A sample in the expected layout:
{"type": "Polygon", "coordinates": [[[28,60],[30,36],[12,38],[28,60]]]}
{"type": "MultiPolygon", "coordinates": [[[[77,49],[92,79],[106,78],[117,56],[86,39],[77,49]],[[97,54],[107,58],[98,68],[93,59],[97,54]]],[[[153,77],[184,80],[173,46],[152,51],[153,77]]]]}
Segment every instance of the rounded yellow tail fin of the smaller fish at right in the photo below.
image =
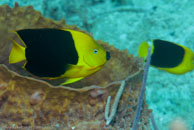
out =
{"type": "Polygon", "coordinates": [[[148,48],[149,48],[149,44],[147,42],[142,42],[138,50],[139,57],[146,57],[148,54],[148,48]]]}

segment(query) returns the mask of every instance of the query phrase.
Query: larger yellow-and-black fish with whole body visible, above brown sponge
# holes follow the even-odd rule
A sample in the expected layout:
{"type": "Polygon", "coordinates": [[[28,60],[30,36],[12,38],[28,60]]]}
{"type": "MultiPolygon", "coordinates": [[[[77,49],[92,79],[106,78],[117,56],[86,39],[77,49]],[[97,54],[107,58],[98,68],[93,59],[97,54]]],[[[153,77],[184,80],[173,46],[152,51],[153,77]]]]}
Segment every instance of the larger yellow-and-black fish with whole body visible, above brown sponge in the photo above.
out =
{"type": "Polygon", "coordinates": [[[26,60],[23,69],[45,79],[67,78],[61,85],[76,82],[98,70],[110,59],[94,39],[70,29],[23,29],[14,31],[24,46],[13,39],[9,63],[26,60]]]}

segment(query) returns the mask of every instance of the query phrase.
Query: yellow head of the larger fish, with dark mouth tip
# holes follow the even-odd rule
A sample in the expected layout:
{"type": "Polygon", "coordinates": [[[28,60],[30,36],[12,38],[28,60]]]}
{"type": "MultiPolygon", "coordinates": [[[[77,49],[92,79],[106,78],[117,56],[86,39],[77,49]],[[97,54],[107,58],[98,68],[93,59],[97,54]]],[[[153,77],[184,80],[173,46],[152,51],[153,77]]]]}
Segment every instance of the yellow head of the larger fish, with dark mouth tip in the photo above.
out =
{"type": "Polygon", "coordinates": [[[92,37],[78,31],[71,30],[70,32],[79,55],[78,65],[94,69],[102,67],[110,59],[110,53],[106,52],[92,37]]]}

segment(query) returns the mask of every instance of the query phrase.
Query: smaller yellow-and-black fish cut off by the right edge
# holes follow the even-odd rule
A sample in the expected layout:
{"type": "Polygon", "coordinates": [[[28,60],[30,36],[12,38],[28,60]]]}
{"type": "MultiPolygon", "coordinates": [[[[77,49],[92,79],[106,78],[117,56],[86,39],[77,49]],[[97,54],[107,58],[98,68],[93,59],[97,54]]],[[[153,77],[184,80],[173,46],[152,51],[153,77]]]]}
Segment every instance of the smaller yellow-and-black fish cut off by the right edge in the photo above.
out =
{"type": "MultiPolygon", "coordinates": [[[[139,46],[139,57],[146,59],[148,42],[139,46]]],[[[151,63],[153,67],[173,74],[184,74],[194,69],[194,53],[191,49],[177,43],[152,40],[151,63]]]]}

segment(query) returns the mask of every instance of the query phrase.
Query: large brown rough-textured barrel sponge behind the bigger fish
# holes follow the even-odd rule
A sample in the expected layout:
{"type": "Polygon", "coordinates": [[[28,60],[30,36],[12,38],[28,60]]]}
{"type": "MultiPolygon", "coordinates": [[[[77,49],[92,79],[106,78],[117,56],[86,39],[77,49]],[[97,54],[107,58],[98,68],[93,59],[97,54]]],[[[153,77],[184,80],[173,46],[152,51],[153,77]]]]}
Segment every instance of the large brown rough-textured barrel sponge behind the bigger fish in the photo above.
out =
{"type": "MultiPolygon", "coordinates": [[[[111,52],[111,60],[97,73],[68,86],[63,81],[42,81],[21,69],[21,63],[9,65],[10,38],[21,43],[12,30],[22,28],[71,28],[65,21],[44,18],[32,7],[0,7],[0,128],[33,128],[65,130],[130,129],[142,84],[141,61],[103,41],[97,41],[111,52]],[[127,77],[130,78],[127,78],[127,77]],[[114,122],[105,126],[107,97],[115,97],[117,81],[127,79],[114,122]]],[[[80,30],[81,31],[81,30],[80,30]]],[[[85,32],[86,33],[86,32],[85,32]]],[[[113,101],[113,100],[112,100],[113,101]]],[[[111,101],[111,104],[112,104],[111,101]]],[[[139,129],[149,128],[146,103],[139,129]]]]}

